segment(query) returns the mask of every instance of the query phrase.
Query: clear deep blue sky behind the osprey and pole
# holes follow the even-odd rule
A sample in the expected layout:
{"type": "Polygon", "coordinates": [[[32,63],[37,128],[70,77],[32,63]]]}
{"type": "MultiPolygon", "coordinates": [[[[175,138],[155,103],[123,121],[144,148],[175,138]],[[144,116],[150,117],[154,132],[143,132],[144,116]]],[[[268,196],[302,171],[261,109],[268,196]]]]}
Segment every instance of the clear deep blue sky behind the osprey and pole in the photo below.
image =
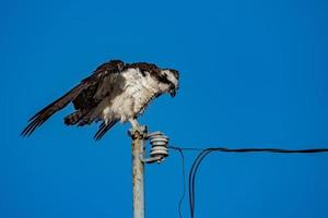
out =
{"type": "MultiPolygon", "coordinates": [[[[140,119],[172,145],[327,147],[327,10],[318,0],[1,1],[0,217],[131,217],[128,124],[94,142],[96,125],[62,124],[70,107],[19,136],[110,59],[180,71],[176,98],[140,119]]],[[[178,217],[179,156],[145,170],[148,217],[178,217]]],[[[196,216],[326,218],[327,196],[328,155],[212,154],[196,216]]]]}

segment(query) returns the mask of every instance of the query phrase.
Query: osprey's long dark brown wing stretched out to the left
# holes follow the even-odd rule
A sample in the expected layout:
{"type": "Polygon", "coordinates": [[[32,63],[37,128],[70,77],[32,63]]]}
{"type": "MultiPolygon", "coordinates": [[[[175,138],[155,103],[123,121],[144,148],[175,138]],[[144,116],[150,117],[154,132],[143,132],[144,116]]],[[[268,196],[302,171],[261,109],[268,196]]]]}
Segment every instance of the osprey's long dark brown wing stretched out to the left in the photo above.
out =
{"type": "Polygon", "coordinates": [[[108,90],[110,90],[110,88],[108,89],[108,84],[106,89],[101,88],[99,90],[99,87],[103,87],[104,83],[110,81],[113,77],[112,75],[118,74],[122,69],[122,65],[124,63],[121,61],[109,61],[98,66],[91,76],[84,78],[79,85],[73,87],[62,97],[33,116],[28,120],[30,123],[23,130],[21,135],[31,135],[36,128],[40,126],[54,113],[61,110],[70,102],[73,102],[74,108],[81,112],[82,116],[80,119],[85,119],[85,116],[89,114],[87,112],[96,107],[102,101],[104,95],[108,94],[108,90]]]}

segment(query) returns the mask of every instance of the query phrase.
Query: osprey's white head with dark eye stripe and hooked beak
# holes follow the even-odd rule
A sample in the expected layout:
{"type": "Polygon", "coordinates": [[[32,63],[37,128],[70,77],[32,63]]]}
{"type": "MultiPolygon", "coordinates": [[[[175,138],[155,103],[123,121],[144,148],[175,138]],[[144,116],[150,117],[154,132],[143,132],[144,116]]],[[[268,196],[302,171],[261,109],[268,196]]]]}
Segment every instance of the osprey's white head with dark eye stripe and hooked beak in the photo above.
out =
{"type": "Polygon", "coordinates": [[[161,71],[161,82],[167,87],[166,92],[174,97],[179,88],[179,72],[173,69],[164,69],[161,71]]]}

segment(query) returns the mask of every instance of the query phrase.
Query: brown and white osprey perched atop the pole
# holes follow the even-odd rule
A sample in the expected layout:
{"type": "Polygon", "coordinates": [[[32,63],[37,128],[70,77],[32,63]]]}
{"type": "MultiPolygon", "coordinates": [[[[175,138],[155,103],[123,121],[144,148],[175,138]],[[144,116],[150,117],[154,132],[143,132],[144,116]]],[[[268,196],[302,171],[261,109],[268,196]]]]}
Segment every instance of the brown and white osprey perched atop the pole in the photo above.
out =
{"type": "Polygon", "coordinates": [[[129,64],[120,60],[108,61],[33,116],[22,135],[31,135],[37,126],[70,102],[75,111],[63,119],[65,124],[82,126],[103,121],[94,135],[95,140],[101,140],[118,121],[129,121],[133,129],[138,129],[138,116],[162,94],[168,93],[174,97],[178,80],[179,73],[176,70],[161,69],[145,62],[129,64]]]}

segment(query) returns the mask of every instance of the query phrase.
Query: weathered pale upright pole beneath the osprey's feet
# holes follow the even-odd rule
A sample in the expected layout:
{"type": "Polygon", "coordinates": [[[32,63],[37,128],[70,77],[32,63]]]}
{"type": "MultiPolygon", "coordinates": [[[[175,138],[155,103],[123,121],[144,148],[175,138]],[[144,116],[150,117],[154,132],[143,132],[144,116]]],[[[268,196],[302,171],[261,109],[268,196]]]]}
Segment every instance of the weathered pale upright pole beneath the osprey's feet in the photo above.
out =
{"type": "Polygon", "coordinates": [[[144,136],[147,128],[130,130],[132,138],[133,218],[144,218],[144,136]]]}

